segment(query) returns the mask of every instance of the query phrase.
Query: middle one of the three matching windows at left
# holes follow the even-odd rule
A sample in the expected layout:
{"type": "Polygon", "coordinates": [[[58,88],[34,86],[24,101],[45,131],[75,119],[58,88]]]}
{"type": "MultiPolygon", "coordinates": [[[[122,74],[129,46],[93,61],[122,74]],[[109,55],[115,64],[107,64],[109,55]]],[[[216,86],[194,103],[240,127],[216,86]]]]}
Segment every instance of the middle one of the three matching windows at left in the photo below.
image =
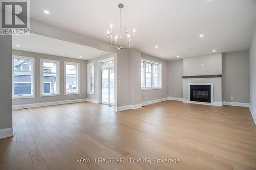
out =
{"type": "Polygon", "coordinates": [[[60,95],[60,61],[41,59],[41,96],[60,95]]]}

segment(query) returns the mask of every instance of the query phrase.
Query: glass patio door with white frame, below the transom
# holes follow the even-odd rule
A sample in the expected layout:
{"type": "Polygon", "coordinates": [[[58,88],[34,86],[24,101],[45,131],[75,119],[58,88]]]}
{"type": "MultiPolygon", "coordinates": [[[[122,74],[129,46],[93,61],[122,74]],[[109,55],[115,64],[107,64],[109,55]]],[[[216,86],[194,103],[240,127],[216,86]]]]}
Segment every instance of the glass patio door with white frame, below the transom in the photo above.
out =
{"type": "Polygon", "coordinates": [[[114,68],[101,69],[101,103],[114,106],[114,103],[115,103],[114,68]]]}

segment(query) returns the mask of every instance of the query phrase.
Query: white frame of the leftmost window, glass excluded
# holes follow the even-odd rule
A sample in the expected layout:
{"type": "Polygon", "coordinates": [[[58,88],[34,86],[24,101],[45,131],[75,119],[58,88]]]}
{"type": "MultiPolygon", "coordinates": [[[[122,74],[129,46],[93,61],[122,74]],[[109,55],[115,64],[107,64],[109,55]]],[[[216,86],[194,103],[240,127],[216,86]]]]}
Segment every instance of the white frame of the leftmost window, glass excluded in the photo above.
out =
{"type": "MultiPolygon", "coordinates": [[[[26,82],[27,83],[27,82],[26,82]]],[[[23,98],[35,98],[35,58],[34,57],[25,57],[25,56],[12,56],[12,99],[23,99],[23,98]],[[31,68],[31,78],[32,78],[32,85],[31,85],[31,93],[32,94],[23,94],[23,95],[14,95],[14,63],[13,59],[25,59],[31,60],[32,68],[31,68]]]]}

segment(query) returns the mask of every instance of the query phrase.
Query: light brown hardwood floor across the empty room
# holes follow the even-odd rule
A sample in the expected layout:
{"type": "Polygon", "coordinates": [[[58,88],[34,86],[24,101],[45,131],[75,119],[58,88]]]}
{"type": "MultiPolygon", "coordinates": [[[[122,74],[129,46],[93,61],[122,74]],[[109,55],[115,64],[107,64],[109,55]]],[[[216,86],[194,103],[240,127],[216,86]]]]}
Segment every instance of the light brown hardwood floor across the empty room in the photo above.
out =
{"type": "Polygon", "coordinates": [[[256,169],[248,108],[165,101],[115,113],[88,102],[13,111],[0,169],[256,169]],[[173,163],[77,163],[77,158],[173,163]]]}

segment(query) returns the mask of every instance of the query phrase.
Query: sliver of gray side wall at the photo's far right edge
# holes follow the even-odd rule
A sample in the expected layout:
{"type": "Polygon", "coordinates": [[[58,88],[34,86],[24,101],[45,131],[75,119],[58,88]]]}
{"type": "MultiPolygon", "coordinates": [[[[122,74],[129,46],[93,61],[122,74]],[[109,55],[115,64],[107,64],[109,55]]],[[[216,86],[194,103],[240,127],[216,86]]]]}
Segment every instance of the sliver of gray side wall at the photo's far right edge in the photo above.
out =
{"type": "Polygon", "coordinates": [[[256,123],[256,28],[250,46],[250,108],[254,112],[254,122],[256,123]]]}

